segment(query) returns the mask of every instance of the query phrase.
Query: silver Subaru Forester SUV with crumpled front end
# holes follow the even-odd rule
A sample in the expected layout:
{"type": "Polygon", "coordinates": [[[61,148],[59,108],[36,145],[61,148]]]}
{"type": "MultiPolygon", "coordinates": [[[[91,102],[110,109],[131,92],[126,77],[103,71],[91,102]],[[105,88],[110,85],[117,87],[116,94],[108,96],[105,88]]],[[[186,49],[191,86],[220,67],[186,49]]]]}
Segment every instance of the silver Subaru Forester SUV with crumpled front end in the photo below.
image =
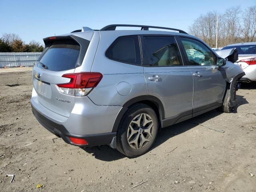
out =
{"type": "Polygon", "coordinates": [[[232,112],[244,76],[235,48],[217,54],[174,28],[83,27],[44,43],[32,71],[36,119],[69,144],[109,144],[129,157],[150,150],[164,127],[215,108],[232,112]]]}

